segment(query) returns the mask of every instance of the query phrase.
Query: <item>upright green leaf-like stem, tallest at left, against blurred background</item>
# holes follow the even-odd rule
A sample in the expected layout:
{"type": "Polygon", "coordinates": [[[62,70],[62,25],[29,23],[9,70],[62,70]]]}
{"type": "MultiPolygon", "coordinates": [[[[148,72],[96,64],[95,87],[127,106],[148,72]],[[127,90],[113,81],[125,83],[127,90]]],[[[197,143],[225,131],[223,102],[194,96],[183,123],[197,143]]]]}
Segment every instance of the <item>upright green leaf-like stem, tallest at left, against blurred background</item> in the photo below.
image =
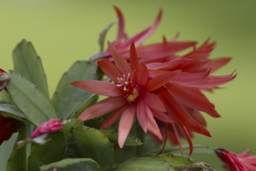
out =
{"type": "Polygon", "coordinates": [[[14,70],[37,85],[38,89],[44,93],[44,96],[49,97],[41,58],[37,55],[33,44],[27,40],[22,40],[12,52],[12,59],[14,70]]]}

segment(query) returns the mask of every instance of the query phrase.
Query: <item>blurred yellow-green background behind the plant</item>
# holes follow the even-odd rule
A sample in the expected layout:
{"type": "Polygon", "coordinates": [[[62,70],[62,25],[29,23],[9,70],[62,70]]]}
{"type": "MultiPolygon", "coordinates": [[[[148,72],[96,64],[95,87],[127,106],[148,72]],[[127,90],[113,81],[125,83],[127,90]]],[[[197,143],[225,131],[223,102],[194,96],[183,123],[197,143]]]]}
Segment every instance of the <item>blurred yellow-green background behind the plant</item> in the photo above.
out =
{"type": "MultiPolygon", "coordinates": [[[[228,148],[242,152],[251,148],[256,155],[256,2],[254,0],[0,0],[0,68],[12,68],[12,50],[23,38],[32,41],[41,56],[54,92],[63,72],[74,61],[98,52],[98,35],[116,19],[112,5],[122,9],[126,31],[133,35],[149,26],[158,10],[163,9],[161,25],[147,43],[161,41],[162,36],[180,40],[208,37],[217,41],[212,58],[231,56],[233,60],[216,74],[237,70],[237,78],[224,89],[207,94],[222,115],[206,116],[212,138],[196,135],[194,144],[228,148]]],[[[116,37],[116,26],[108,40],[116,37]]],[[[12,138],[13,139],[13,138],[12,138]]],[[[0,170],[5,170],[12,143],[0,147],[0,170]]],[[[196,156],[219,168],[212,155],[196,156]]]]}

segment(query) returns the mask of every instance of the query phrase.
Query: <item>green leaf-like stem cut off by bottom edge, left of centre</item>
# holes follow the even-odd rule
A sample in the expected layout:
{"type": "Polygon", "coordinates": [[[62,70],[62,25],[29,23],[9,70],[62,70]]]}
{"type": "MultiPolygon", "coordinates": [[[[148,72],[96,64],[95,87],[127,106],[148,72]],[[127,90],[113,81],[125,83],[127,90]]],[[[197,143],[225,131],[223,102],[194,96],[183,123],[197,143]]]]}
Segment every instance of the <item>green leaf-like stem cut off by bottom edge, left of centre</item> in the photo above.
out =
{"type": "Polygon", "coordinates": [[[58,171],[99,171],[100,166],[93,159],[62,159],[59,162],[41,166],[40,171],[58,170],[58,171]]]}

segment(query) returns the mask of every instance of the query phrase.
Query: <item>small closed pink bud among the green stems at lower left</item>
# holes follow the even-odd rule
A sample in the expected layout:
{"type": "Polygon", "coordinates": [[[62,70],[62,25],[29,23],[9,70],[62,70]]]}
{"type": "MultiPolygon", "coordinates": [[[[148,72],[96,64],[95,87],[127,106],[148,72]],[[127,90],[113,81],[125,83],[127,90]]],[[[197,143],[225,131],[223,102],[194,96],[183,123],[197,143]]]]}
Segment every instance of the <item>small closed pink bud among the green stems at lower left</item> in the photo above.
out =
{"type": "Polygon", "coordinates": [[[62,129],[62,119],[51,119],[39,125],[30,135],[31,138],[36,138],[42,134],[58,132],[62,129]]]}

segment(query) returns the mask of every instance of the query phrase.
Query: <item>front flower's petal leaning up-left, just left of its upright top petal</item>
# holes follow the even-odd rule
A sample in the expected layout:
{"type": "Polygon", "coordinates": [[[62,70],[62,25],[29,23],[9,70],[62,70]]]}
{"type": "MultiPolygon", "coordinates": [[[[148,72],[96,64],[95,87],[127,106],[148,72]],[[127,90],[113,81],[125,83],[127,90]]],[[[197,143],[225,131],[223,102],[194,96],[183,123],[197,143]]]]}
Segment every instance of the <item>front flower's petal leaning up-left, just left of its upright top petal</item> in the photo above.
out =
{"type": "Polygon", "coordinates": [[[108,48],[111,51],[112,58],[115,61],[116,67],[125,75],[131,72],[130,65],[128,65],[127,61],[121,57],[116,48],[108,41],[108,48]]]}

